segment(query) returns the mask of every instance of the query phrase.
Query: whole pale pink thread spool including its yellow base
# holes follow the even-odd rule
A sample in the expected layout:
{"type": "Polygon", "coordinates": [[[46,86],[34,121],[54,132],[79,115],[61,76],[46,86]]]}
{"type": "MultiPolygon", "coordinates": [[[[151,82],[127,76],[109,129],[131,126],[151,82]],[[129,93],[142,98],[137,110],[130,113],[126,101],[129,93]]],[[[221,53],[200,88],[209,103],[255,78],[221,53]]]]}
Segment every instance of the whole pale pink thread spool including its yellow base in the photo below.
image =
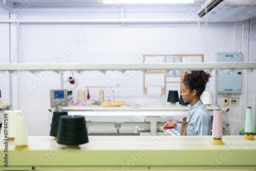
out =
{"type": "Polygon", "coordinates": [[[211,141],[211,144],[223,145],[224,142],[221,140],[222,136],[222,113],[221,110],[214,110],[214,119],[212,121],[212,137],[214,140],[211,141]]]}

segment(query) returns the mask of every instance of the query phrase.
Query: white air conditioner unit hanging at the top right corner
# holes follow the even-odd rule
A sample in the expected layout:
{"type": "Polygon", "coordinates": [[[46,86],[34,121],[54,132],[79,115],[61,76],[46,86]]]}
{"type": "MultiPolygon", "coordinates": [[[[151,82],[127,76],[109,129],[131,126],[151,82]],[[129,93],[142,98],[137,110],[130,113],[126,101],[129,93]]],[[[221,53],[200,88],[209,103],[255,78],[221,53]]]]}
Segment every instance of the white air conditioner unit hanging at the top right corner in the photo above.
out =
{"type": "Polygon", "coordinates": [[[198,11],[208,22],[238,22],[256,16],[256,0],[211,0],[198,11]]]}

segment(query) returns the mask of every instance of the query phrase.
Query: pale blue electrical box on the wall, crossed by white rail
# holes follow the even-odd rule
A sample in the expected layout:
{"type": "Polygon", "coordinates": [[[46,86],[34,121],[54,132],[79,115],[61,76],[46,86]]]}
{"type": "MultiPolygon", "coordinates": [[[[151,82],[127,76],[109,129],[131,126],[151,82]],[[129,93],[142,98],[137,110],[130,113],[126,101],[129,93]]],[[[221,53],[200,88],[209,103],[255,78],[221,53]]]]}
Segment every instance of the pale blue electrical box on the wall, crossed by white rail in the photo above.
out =
{"type": "MultiPolygon", "coordinates": [[[[242,62],[243,54],[216,53],[216,59],[217,62],[242,62]]],[[[242,93],[242,70],[225,71],[223,66],[218,72],[218,93],[242,93]]]]}

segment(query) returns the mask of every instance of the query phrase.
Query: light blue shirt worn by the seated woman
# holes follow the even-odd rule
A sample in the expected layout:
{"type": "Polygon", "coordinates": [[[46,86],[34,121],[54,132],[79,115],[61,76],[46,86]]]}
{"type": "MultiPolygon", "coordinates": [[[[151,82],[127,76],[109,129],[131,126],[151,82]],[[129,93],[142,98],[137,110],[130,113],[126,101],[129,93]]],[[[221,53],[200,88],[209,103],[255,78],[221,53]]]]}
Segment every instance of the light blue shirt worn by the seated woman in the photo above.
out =
{"type": "MultiPolygon", "coordinates": [[[[210,135],[211,118],[202,100],[189,108],[186,122],[188,122],[190,115],[193,116],[187,127],[187,135],[210,135]]],[[[181,123],[178,123],[177,127],[181,130],[181,123]]]]}

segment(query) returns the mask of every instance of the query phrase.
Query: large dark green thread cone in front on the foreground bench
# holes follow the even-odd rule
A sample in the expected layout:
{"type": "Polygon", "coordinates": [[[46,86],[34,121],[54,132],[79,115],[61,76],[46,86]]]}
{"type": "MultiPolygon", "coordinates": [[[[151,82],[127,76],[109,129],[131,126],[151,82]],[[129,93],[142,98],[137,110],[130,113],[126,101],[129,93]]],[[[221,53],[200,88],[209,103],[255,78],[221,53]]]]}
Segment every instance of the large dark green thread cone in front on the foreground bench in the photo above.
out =
{"type": "Polygon", "coordinates": [[[79,148],[78,145],[88,142],[84,116],[64,115],[60,117],[57,143],[67,145],[66,148],[79,148]]]}

